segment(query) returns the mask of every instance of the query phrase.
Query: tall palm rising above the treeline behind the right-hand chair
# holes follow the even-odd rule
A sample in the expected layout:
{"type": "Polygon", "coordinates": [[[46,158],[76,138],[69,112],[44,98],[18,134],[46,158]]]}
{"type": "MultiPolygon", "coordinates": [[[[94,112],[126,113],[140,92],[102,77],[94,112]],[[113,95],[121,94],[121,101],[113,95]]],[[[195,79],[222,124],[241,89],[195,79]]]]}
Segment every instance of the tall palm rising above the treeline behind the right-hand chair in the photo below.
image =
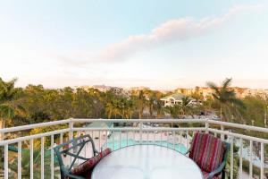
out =
{"type": "Polygon", "coordinates": [[[220,117],[223,121],[228,121],[233,115],[242,119],[239,114],[239,108],[246,108],[244,103],[239,98],[236,98],[235,91],[230,89],[231,81],[231,78],[225,79],[220,87],[214,82],[207,82],[207,86],[214,90],[213,97],[220,106],[220,117]]]}

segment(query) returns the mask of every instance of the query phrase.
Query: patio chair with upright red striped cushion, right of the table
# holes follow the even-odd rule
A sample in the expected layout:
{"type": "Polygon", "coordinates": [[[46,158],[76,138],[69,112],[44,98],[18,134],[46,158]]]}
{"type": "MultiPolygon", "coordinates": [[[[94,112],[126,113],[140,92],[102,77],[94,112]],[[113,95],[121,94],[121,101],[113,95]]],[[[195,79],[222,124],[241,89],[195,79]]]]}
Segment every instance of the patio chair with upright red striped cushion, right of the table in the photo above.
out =
{"type": "Polygon", "coordinates": [[[201,168],[204,179],[225,178],[224,169],[229,149],[229,143],[209,133],[197,132],[186,154],[201,168]]]}

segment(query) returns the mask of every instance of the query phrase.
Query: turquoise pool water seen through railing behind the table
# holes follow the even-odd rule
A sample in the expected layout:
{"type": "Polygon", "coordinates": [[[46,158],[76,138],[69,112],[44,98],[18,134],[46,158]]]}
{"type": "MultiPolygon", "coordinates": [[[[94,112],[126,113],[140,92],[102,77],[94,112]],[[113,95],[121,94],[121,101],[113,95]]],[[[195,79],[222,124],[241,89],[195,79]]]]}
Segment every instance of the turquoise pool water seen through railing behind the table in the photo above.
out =
{"type": "MultiPolygon", "coordinates": [[[[163,147],[167,147],[169,149],[175,149],[176,151],[179,151],[180,153],[186,153],[188,149],[186,149],[186,147],[182,144],[174,144],[173,143],[170,143],[170,142],[167,142],[167,141],[142,141],[141,142],[142,144],[154,144],[154,145],[158,145],[158,146],[163,146],[163,147]]],[[[116,149],[121,149],[123,147],[127,147],[127,146],[131,146],[131,145],[137,145],[139,144],[139,141],[134,141],[134,140],[121,140],[120,141],[107,141],[107,143],[105,143],[103,145],[103,149],[105,148],[110,148],[110,149],[113,149],[113,150],[116,150],[116,149]]]]}

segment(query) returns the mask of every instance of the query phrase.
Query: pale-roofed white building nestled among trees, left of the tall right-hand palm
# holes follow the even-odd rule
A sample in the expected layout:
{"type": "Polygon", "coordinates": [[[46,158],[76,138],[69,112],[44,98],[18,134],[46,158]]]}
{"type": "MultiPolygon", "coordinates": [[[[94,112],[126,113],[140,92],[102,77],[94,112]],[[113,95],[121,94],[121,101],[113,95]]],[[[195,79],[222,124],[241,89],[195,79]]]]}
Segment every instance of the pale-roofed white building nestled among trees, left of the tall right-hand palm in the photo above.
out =
{"type": "MultiPolygon", "coordinates": [[[[163,106],[164,107],[173,107],[174,105],[178,105],[182,103],[182,98],[185,98],[186,95],[181,94],[181,93],[175,93],[170,96],[161,98],[160,100],[163,101],[163,106]]],[[[190,98],[192,104],[196,104],[196,100],[194,98],[190,98]]]]}

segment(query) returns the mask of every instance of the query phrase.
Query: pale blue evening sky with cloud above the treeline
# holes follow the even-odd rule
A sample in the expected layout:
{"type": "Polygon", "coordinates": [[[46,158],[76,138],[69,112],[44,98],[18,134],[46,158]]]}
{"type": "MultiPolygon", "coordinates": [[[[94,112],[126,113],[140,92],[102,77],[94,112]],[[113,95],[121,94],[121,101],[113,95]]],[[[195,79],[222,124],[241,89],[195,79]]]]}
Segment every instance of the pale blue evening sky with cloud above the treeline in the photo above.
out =
{"type": "Polygon", "coordinates": [[[0,0],[0,77],[46,88],[268,89],[267,0],[0,0]]]}

